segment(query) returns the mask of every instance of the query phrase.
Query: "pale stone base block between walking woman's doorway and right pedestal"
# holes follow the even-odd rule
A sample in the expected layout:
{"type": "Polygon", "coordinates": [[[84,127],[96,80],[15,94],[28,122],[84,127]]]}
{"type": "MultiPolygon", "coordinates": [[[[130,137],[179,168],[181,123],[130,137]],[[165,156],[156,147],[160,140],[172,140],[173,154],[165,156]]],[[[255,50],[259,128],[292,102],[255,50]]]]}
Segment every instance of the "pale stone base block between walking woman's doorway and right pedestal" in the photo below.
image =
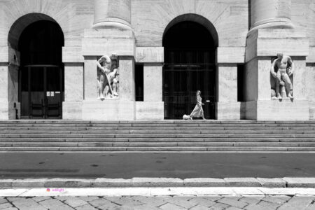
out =
{"type": "Polygon", "coordinates": [[[240,102],[217,102],[216,103],[217,120],[240,120],[241,103],[240,102]]]}

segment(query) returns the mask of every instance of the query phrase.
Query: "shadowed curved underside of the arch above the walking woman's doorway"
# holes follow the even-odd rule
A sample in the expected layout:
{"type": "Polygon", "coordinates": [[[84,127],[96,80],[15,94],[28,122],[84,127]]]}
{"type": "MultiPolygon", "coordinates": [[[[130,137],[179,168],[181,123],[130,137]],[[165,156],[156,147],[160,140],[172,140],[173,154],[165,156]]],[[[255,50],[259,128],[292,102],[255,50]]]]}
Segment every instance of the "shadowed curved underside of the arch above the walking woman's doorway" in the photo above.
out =
{"type": "Polygon", "coordinates": [[[197,22],[210,32],[212,38],[214,38],[214,45],[218,47],[219,44],[219,38],[218,38],[218,31],[216,30],[216,27],[208,20],[207,18],[204,18],[202,15],[194,14],[194,13],[188,13],[179,15],[176,18],[174,18],[171,22],[168,23],[168,25],[165,27],[165,31],[163,33],[163,38],[167,31],[174,25],[176,25],[179,22],[183,21],[192,21],[197,22]]]}

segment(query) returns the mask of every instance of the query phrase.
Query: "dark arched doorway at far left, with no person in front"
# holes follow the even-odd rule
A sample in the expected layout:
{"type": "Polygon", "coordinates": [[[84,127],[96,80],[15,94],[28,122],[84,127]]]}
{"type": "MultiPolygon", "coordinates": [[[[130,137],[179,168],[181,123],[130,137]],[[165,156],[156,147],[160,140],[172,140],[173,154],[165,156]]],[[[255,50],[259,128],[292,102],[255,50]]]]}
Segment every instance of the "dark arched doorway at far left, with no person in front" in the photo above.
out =
{"type": "Polygon", "coordinates": [[[20,35],[21,118],[62,118],[64,35],[57,22],[39,20],[20,35]]]}

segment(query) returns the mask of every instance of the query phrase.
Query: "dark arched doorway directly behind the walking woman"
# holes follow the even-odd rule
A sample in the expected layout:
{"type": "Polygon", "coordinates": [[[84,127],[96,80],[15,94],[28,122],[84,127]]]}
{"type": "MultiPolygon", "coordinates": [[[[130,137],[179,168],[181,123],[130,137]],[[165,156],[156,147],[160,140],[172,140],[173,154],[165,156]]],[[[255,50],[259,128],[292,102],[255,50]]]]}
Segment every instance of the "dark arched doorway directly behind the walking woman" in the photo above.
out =
{"type": "Polygon", "coordinates": [[[163,37],[165,119],[181,119],[196,104],[201,90],[204,114],[215,118],[217,43],[209,29],[195,21],[176,22],[163,37]]]}

